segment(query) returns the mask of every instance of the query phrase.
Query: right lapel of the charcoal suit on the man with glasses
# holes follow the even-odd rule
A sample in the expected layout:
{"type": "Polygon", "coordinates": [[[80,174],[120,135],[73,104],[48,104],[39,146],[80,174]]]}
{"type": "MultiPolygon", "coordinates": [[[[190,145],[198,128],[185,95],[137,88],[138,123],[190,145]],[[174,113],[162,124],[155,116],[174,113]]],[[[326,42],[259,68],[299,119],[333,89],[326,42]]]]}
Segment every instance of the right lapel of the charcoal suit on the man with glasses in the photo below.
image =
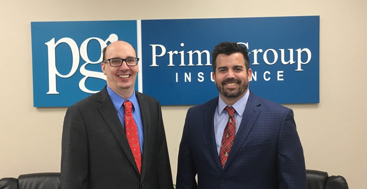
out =
{"type": "Polygon", "coordinates": [[[148,146],[150,144],[150,138],[151,138],[150,111],[148,104],[144,101],[143,95],[141,95],[141,93],[137,91],[135,91],[135,94],[139,102],[141,119],[143,124],[143,133],[144,133],[143,156],[142,156],[141,179],[140,179],[140,181],[142,182],[146,174],[146,167],[151,153],[148,146]]]}

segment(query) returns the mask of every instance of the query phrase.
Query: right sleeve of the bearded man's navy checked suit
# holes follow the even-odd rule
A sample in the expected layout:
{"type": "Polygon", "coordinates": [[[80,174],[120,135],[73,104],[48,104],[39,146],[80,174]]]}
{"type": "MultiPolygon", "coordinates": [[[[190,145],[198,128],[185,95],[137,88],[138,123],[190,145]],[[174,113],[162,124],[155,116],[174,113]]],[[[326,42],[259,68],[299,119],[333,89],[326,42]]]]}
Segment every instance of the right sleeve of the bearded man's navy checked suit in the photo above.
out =
{"type": "Polygon", "coordinates": [[[291,109],[286,111],[281,123],[277,166],[280,189],[306,189],[305,158],[291,109]]]}

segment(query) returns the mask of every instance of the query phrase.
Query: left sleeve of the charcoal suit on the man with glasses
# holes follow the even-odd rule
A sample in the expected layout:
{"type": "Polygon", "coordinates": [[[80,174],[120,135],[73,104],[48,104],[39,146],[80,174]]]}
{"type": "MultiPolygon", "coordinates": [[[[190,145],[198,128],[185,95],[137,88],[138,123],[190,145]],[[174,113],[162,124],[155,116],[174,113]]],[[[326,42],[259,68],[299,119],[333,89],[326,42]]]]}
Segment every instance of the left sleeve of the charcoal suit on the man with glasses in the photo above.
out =
{"type": "Polygon", "coordinates": [[[79,111],[66,110],[61,142],[61,188],[88,188],[88,143],[84,121],[79,111]]]}

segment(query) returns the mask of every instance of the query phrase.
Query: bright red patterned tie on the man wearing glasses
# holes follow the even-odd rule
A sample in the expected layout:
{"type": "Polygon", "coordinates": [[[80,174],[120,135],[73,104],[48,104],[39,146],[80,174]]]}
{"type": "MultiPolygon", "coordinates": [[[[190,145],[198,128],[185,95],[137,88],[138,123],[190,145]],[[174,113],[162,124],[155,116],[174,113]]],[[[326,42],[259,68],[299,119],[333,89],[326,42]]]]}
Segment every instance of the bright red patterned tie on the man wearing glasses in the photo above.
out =
{"type": "Polygon", "coordinates": [[[135,163],[138,166],[139,173],[141,173],[141,152],[138,137],[138,128],[134,119],[132,118],[132,103],[130,101],[124,102],[125,108],[125,133],[127,141],[129,142],[132,155],[134,156],[135,163]]]}

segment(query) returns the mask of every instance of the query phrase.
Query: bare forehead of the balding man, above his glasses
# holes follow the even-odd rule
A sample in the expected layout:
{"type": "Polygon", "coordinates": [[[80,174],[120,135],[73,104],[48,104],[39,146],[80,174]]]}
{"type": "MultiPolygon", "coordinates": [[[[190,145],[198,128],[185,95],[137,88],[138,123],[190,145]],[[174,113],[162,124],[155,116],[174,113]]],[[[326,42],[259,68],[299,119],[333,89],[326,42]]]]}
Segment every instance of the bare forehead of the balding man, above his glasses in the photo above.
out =
{"type": "Polygon", "coordinates": [[[116,41],[106,48],[106,59],[136,57],[134,48],[124,41],[116,41]]]}

